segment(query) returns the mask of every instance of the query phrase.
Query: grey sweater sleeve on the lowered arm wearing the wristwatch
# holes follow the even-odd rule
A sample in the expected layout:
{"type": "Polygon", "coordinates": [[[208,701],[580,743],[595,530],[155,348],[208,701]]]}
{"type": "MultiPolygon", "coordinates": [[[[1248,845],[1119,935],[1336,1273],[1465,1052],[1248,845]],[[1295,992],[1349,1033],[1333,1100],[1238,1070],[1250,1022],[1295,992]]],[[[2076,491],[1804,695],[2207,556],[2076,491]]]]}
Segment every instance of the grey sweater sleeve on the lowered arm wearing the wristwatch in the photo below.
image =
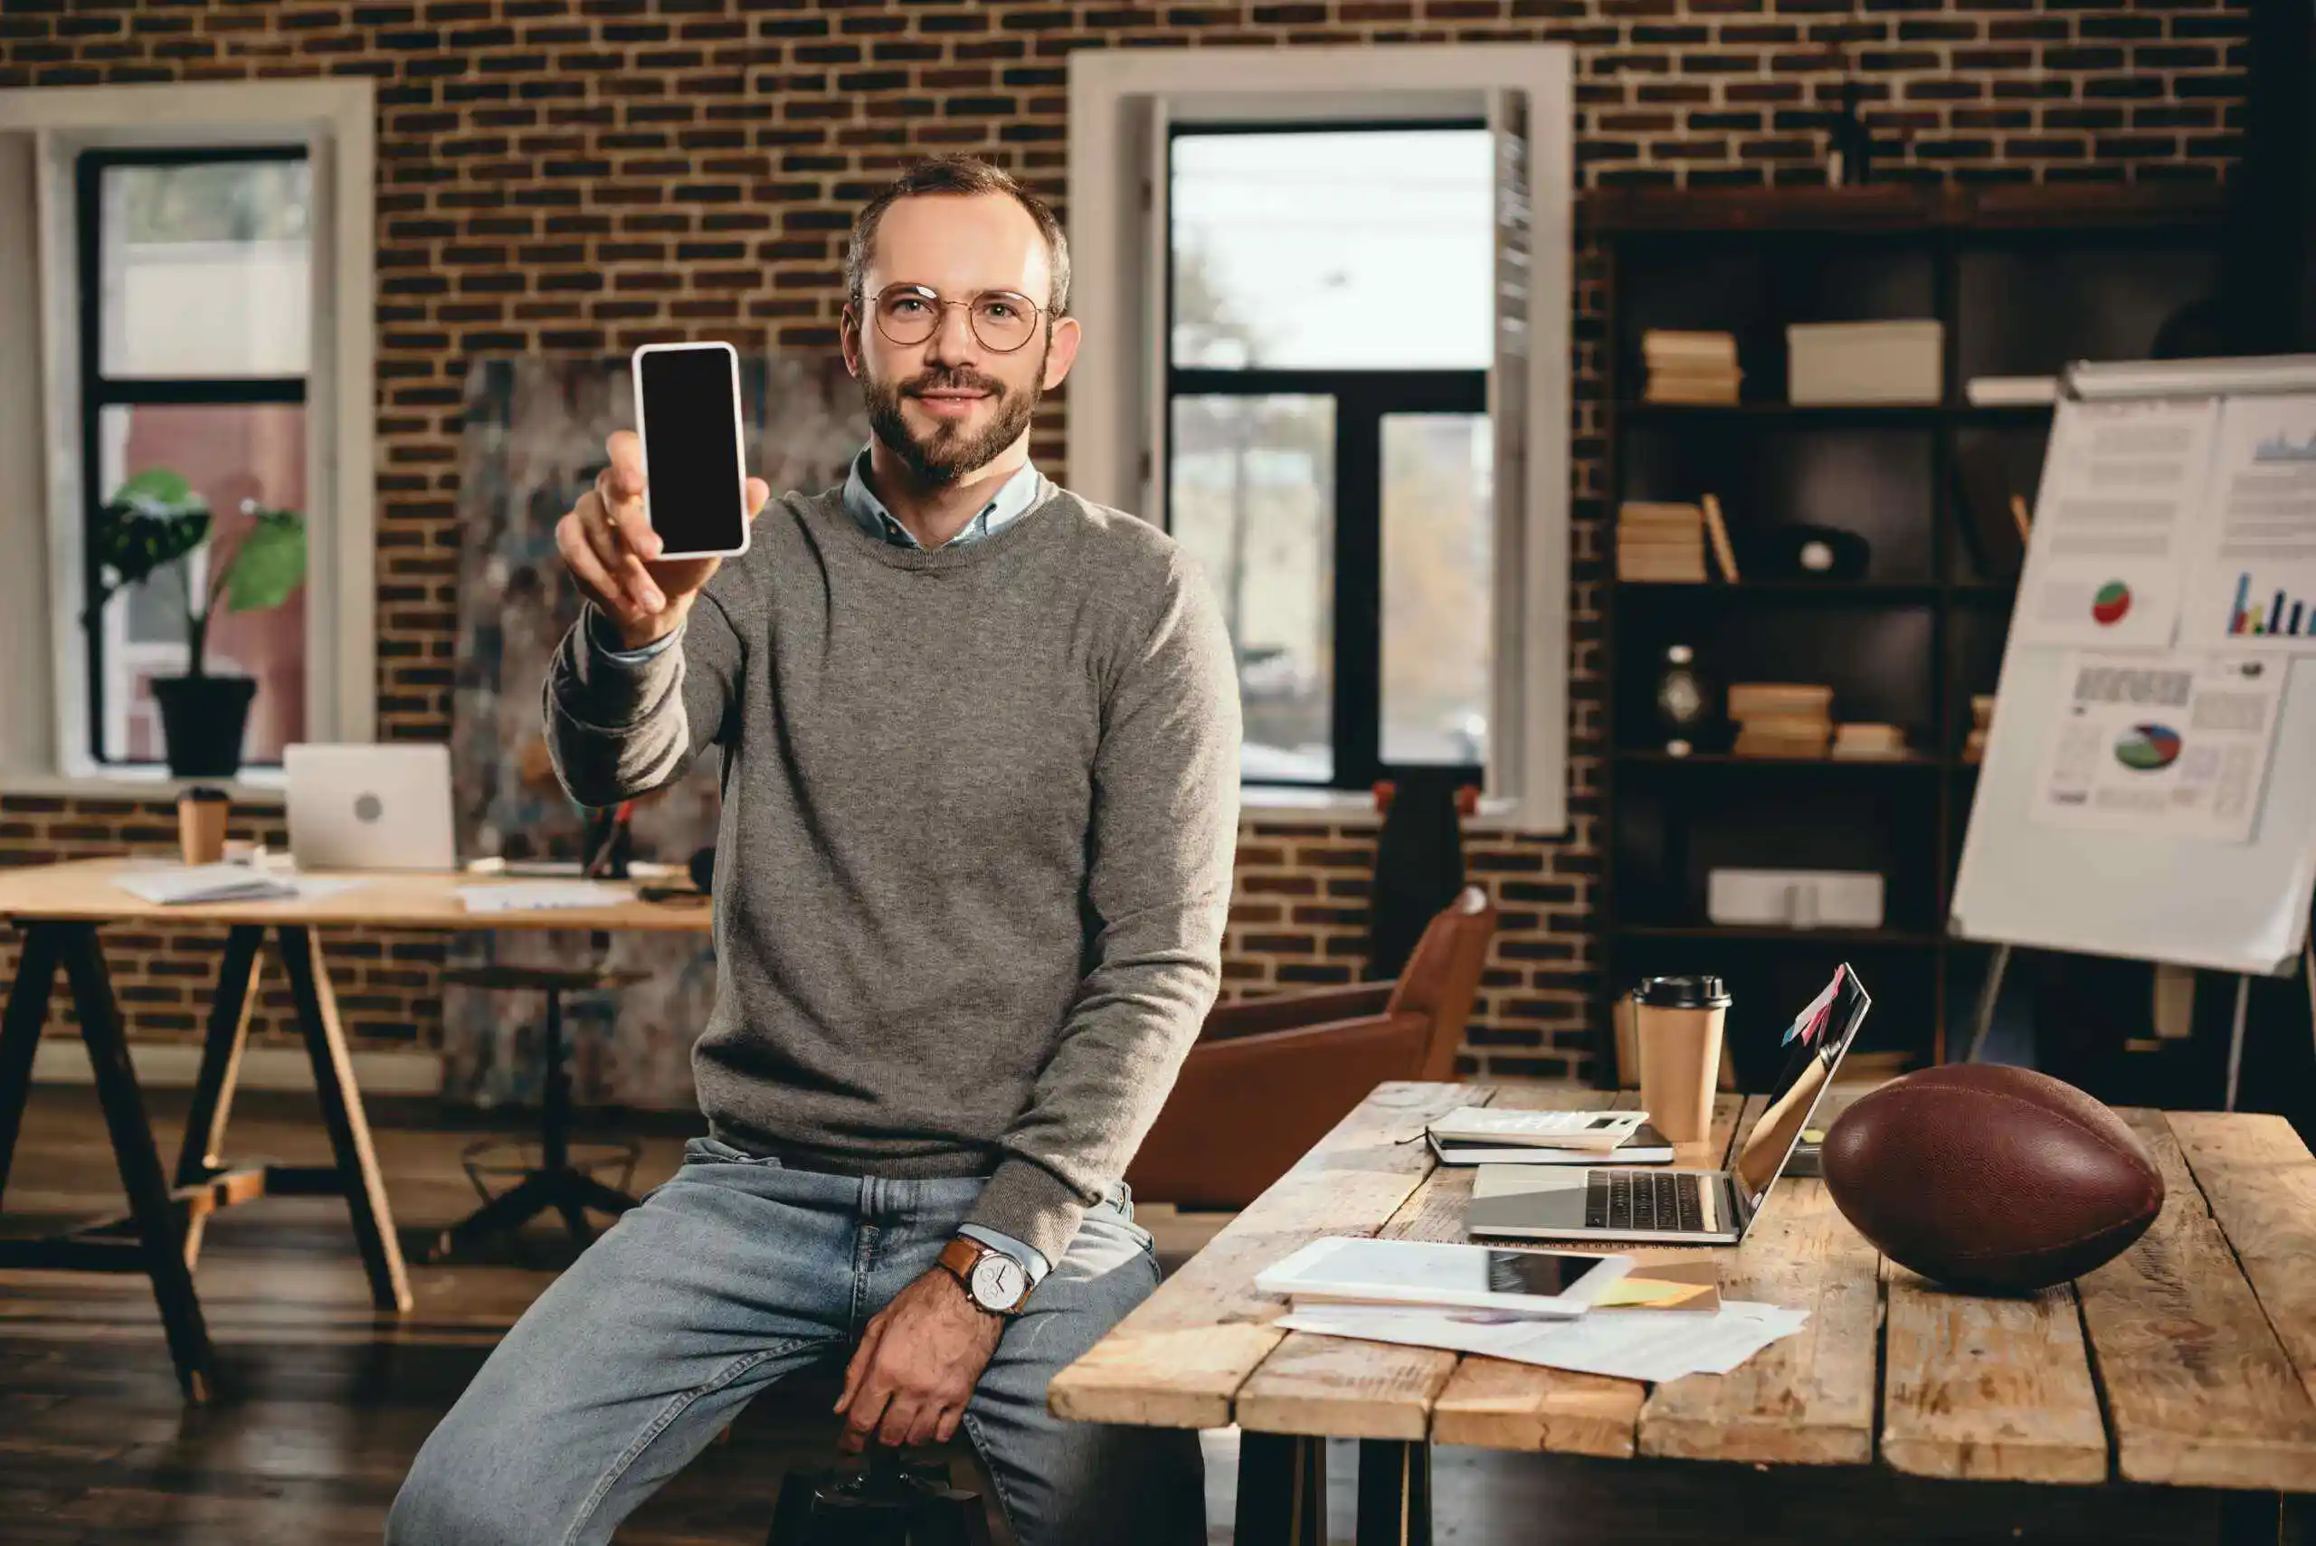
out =
{"type": "Polygon", "coordinates": [[[1239,840],[1239,680],[1204,579],[1179,551],[1121,664],[1093,759],[1091,970],[966,1222],[1061,1261],[1126,1171],[1223,977],[1239,840]]]}

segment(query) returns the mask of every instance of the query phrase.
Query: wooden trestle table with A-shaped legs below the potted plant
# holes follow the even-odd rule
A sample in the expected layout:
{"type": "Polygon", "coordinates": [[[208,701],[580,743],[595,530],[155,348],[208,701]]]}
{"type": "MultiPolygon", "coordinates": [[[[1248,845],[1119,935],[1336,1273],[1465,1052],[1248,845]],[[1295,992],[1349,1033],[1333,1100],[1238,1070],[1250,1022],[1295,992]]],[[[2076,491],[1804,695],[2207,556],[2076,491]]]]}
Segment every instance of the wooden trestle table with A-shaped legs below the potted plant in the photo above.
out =
{"type": "Polygon", "coordinates": [[[90,1224],[49,1241],[0,1241],[0,1268],[144,1273],[153,1280],[169,1356],[188,1400],[208,1400],[213,1361],[192,1268],[201,1252],[201,1227],[218,1208],[276,1197],[343,1197],[354,1222],[354,1243],[380,1310],[410,1308],[387,1187],[371,1150],[371,1125],[338,1025],[338,1000],[322,963],[317,928],[588,928],[706,933],[711,912],[699,903],[625,900],[609,907],[554,907],[537,912],[466,912],[456,886],[507,884],[486,875],[378,873],[331,896],[285,903],[197,903],[164,907],[113,884],[120,859],[0,870],[0,914],[23,930],[23,954],[7,1014],[0,1018],[0,1197],[7,1192],[16,1129],[32,1088],[32,1053],[49,1018],[49,993],[58,970],[72,991],[81,1039],[95,1067],[97,1102],[111,1134],[120,1185],[130,1199],[123,1220],[90,1224]],[[97,930],[104,923],[222,923],[225,954],[218,991],[208,1009],[201,1069],[195,1078],[185,1143],[169,1180],[146,1120],[144,1095],[130,1067],[130,1048],[113,1002],[111,977],[97,930]],[[241,1046],[257,1000],[257,947],[266,930],[276,937],[296,1023],[313,1058],[313,1083],[329,1129],[334,1164],[227,1164],[225,1120],[234,1102],[241,1046]]]}

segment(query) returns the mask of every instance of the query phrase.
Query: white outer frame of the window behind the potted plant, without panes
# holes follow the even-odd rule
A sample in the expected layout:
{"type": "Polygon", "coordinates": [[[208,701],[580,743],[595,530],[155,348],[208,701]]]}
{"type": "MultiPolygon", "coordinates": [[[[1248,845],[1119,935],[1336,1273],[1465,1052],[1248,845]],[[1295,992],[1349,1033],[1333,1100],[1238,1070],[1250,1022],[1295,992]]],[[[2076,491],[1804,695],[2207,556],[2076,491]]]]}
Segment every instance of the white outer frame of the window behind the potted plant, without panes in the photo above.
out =
{"type": "MultiPolygon", "coordinates": [[[[162,768],[100,764],[88,745],[88,657],[79,620],[86,505],[72,178],[81,150],[306,148],[317,236],[306,375],[306,738],[378,738],[375,111],[368,79],[0,90],[0,141],[30,141],[32,148],[30,229],[37,245],[30,266],[42,361],[39,428],[30,437],[37,502],[0,509],[0,535],[23,553],[46,549],[44,562],[0,576],[0,606],[44,618],[53,660],[53,671],[0,673],[0,789],[118,794],[169,782],[162,768]],[[35,507],[44,509],[37,525],[23,514],[35,507]]],[[[5,220],[7,211],[0,211],[5,220]]],[[[0,257],[0,308],[7,305],[9,257],[0,257]]],[[[9,340],[9,366],[23,370],[30,361],[16,359],[16,326],[7,317],[0,317],[0,338],[9,340]]],[[[0,424],[0,444],[14,437],[21,430],[12,435],[0,424]]],[[[5,470],[0,477],[7,477],[5,470]]],[[[0,500],[9,488],[0,488],[0,500]]],[[[243,773],[243,785],[259,796],[278,792],[278,782],[273,768],[243,773]]]]}

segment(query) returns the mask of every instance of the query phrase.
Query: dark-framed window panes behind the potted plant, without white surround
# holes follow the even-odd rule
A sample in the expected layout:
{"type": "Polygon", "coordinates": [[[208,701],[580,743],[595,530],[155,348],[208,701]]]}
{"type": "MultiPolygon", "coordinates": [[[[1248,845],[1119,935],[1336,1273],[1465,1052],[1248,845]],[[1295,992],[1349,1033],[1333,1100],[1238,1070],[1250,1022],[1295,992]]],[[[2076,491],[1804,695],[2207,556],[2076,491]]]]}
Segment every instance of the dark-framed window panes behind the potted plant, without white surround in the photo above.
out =
{"type": "MultiPolygon", "coordinates": [[[[88,750],[157,764],[153,678],[188,669],[188,595],[206,595],[262,509],[306,511],[313,169],[301,148],[86,150],[76,157],[81,456],[88,521],[137,474],[174,472],[208,542],[97,604],[83,558],[88,750]]],[[[83,546],[83,553],[90,549],[83,546]]],[[[245,757],[306,738],[306,592],[215,604],[204,669],[257,678],[245,757]]]]}

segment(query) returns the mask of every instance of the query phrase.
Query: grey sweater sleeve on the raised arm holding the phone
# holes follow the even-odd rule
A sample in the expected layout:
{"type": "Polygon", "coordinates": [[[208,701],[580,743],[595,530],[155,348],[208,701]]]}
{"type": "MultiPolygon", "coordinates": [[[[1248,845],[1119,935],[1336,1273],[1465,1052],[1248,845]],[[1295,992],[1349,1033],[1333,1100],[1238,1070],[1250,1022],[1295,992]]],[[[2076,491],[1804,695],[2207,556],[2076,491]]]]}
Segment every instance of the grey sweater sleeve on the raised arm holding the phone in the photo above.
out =
{"type": "Polygon", "coordinates": [[[565,794],[616,805],[676,780],[706,745],[732,745],[746,650],[725,599],[709,581],[674,643],[604,648],[595,606],[556,646],[547,667],[547,752],[565,794]]]}

